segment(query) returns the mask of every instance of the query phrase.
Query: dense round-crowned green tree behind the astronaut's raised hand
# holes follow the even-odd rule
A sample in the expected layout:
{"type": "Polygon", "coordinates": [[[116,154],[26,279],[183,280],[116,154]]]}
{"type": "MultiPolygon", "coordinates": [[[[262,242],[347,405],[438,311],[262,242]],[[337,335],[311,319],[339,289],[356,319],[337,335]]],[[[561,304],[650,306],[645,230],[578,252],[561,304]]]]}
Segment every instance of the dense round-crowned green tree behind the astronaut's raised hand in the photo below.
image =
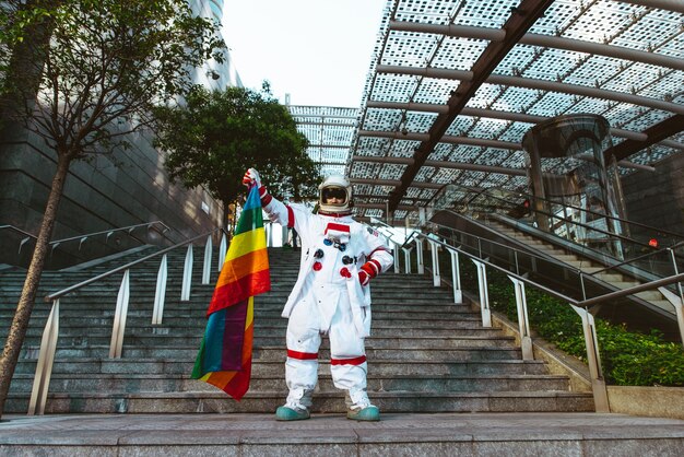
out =
{"type": "Polygon", "coordinates": [[[311,197],[320,173],[306,153],[308,141],[268,83],[208,91],[196,86],[184,104],[160,108],[156,143],[168,152],[173,178],[186,187],[205,186],[224,211],[245,192],[243,175],[259,171],[276,197],[311,197]]]}

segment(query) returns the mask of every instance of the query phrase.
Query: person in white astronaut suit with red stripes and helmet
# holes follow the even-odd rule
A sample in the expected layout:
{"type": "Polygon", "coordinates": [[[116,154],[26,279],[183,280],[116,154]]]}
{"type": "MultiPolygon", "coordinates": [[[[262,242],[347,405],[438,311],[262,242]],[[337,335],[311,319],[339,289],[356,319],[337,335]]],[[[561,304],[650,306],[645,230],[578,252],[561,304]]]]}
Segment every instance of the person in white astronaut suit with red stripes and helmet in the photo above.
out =
{"type": "Polygon", "coordinates": [[[343,176],[330,176],[319,186],[317,214],[273,198],[253,168],[247,171],[243,183],[258,186],[269,219],[295,227],[302,239],[299,276],[282,313],[288,318],[285,380],[290,394],[275,411],[276,420],[309,418],[318,380],[318,349],[321,336],[327,335],[330,372],[334,386],[346,391],[347,419],[378,421],[379,409],[366,392],[368,282],[393,263],[391,254],[376,231],[352,219],[352,187],[343,176]]]}

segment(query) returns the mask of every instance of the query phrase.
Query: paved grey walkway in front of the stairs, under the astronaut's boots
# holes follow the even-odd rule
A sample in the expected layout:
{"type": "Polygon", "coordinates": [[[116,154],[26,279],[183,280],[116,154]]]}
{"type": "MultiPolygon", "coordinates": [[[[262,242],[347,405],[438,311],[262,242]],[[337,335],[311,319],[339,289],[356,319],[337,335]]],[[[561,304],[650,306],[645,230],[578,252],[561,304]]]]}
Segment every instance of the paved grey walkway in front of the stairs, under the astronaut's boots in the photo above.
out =
{"type": "Polygon", "coordinates": [[[0,455],[682,456],[684,421],[598,413],[5,415],[0,455]]]}

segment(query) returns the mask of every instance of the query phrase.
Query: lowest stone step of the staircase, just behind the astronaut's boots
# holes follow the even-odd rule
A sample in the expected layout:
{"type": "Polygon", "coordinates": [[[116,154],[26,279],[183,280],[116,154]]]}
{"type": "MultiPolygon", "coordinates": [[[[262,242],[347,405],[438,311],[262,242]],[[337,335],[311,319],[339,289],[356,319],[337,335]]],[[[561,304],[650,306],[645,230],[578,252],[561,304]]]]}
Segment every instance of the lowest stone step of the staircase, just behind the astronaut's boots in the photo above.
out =
{"type": "MultiPolygon", "coordinates": [[[[217,389],[216,389],[217,390],[217,389]]],[[[129,394],[48,394],[46,414],[58,413],[234,413],[272,412],[285,399],[285,391],[247,392],[234,401],[216,392],[129,392],[129,394]]],[[[490,391],[490,392],[375,392],[372,401],[390,412],[555,412],[592,411],[590,394],[568,391],[490,391]]],[[[8,412],[26,411],[28,398],[11,394],[8,412]]],[[[344,394],[321,391],[314,396],[311,412],[346,411],[344,394]]]]}

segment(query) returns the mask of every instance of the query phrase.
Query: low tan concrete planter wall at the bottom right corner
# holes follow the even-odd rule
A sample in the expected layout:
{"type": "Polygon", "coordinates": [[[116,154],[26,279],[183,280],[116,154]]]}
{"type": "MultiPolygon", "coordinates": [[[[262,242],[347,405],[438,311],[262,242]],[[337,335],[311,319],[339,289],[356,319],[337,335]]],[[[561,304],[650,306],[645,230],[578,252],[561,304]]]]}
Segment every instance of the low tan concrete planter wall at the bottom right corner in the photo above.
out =
{"type": "Polygon", "coordinates": [[[684,387],[609,386],[611,412],[684,419],[684,387]]]}

